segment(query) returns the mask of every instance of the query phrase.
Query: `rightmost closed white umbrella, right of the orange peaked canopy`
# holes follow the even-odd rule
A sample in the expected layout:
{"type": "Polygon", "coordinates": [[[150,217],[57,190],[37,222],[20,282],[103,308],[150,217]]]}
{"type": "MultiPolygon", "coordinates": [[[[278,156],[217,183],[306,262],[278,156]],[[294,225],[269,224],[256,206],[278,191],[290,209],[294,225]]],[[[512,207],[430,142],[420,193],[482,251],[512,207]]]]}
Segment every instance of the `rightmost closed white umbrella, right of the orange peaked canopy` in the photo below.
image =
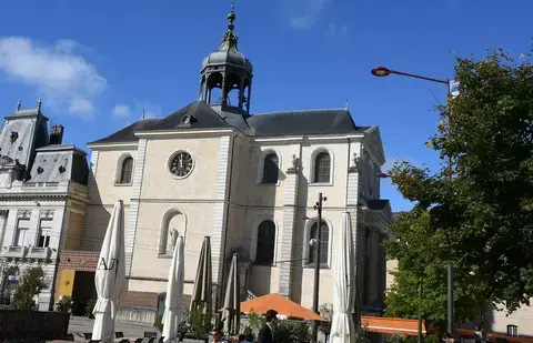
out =
{"type": "Polygon", "coordinates": [[[344,212],[333,256],[333,343],[350,343],[355,339],[353,311],[355,305],[355,254],[350,213],[344,212]]]}

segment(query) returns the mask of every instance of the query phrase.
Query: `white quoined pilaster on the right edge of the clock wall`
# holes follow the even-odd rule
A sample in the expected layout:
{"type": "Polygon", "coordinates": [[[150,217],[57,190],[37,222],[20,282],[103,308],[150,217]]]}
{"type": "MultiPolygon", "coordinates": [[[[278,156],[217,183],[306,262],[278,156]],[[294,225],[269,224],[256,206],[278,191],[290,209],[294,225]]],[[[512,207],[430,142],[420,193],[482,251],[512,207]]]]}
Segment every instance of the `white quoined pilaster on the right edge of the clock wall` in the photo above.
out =
{"type": "Polygon", "coordinates": [[[224,245],[227,234],[228,203],[230,193],[231,159],[233,140],[231,137],[221,137],[219,144],[219,163],[217,173],[217,202],[213,212],[213,233],[211,236],[211,253],[213,281],[222,282],[222,266],[224,262],[224,245]]]}

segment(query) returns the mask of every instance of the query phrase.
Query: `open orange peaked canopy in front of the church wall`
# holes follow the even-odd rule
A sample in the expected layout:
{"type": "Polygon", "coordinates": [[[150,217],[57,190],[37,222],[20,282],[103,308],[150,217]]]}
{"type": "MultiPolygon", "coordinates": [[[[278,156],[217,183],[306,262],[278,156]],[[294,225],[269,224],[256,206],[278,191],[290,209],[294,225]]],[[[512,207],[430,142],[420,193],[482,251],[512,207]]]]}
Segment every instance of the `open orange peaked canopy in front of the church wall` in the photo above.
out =
{"type": "Polygon", "coordinates": [[[314,313],[313,311],[303,307],[295,302],[281,296],[278,293],[266,294],[258,296],[251,300],[243,301],[241,303],[241,312],[255,312],[266,313],[269,310],[278,311],[278,314],[286,315],[290,317],[299,317],[310,321],[326,322],[323,317],[314,313]]]}

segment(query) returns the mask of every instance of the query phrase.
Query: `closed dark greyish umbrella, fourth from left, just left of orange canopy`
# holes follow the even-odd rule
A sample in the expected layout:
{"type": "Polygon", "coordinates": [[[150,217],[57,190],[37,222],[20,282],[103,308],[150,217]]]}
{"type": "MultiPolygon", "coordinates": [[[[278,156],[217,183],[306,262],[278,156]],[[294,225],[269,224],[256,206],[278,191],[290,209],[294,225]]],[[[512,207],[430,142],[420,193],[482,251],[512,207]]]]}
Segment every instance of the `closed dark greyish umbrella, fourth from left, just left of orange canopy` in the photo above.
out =
{"type": "Polygon", "coordinates": [[[239,256],[233,254],[225,286],[224,307],[222,310],[222,321],[224,321],[224,332],[229,335],[238,334],[241,329],[241,296],[239,279],[239,256]]]}

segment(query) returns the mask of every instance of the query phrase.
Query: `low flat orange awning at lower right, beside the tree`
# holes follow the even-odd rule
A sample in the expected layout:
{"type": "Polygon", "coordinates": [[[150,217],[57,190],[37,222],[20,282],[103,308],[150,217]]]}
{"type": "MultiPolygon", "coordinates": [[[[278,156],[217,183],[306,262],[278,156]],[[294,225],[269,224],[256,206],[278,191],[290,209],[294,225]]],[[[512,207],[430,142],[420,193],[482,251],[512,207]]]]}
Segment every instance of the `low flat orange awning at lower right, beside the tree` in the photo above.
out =
{"type": "MultiPolygon", "coordinates": [[[[361,316],[361,325],[369,332],[389,334],[403,334],[415,336],[419,334],[418,320],[404,320],[400,317],[361,316]]],[[[422,322],[422,334],[425,335],[425,324],[422,322]]]]}

